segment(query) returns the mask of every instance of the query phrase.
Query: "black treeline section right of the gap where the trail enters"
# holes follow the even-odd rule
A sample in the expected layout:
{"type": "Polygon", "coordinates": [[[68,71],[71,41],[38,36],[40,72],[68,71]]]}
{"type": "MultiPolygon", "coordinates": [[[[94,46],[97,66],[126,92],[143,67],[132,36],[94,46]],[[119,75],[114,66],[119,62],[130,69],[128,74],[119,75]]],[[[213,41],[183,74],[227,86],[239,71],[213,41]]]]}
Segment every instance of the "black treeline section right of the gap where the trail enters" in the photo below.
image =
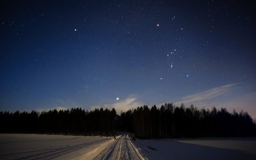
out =
{"type": "Polygon", "coordinates": [[[134,109],[133,128],[142,138],[256,136],[256,124],[247,112],[229,113],[215,107],[198,110],[193,105],[186,108],[172,103],[134,109]]]}

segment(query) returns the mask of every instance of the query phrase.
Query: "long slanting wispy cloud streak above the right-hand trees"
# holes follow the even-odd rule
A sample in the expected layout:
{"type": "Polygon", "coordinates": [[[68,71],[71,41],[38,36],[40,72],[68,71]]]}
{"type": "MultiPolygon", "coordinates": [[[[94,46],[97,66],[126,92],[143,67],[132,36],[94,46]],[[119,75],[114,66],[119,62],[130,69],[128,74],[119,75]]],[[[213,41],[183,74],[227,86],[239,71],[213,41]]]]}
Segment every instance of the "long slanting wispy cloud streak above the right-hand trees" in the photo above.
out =
{"type": "Polygon", "coordinates": [[[213,102],[213,101],[216,101],[217,98],[223,98],[224,96],[228,96],[234,93],[236,90],[238,90],[236,86],[237,86],[237,83],[212,88],[204,92],[199,92],[196,94],[185,96],[180,100],[174,102],[174,104],[181,104],[183,102],[185,105],[198,104],[198,103],[200,105],[203,105],[204,103],[209,105],[209,101],[213,102]]]}

